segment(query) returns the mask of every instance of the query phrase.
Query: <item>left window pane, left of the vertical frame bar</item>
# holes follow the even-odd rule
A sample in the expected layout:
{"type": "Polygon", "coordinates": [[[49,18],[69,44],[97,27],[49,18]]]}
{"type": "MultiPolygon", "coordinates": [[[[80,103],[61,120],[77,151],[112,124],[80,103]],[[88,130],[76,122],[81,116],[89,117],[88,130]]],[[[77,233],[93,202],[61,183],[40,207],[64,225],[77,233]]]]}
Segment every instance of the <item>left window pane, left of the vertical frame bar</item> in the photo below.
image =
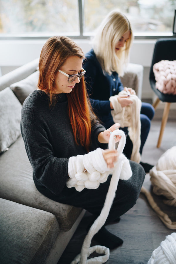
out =
{"type": "Polygon", "coordinates": [[[78,1],[0,0],[0,32],[78,35],[78,1]]]}

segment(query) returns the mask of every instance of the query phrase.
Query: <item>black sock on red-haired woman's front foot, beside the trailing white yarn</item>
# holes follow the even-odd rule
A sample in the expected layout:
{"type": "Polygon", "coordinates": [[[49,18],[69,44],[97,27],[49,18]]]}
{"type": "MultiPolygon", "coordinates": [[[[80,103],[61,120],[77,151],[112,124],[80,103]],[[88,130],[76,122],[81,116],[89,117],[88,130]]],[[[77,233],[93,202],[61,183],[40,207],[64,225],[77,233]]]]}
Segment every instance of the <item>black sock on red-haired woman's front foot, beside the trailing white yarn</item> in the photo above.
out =
{"type": "Polygon", "coordinates": [[[116,248],[123,243],[121,238],[110,233],[104,226],[94,235],[93,239],[109,249],[116,248]]]}

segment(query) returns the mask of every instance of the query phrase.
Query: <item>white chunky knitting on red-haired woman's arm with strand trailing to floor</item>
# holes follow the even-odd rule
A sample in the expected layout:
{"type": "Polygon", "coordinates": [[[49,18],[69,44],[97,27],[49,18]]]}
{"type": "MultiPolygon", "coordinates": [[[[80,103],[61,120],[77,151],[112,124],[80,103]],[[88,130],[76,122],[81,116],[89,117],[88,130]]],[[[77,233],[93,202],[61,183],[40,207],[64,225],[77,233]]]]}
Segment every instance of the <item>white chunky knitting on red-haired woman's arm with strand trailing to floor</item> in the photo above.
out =
{"type": "Polygon", "coordinates": [[[94,221],[93,225],[89,229],[89,232],[84,239],[81,253],[76,256],[71,264],[101,264],[105,263],[109,258],[109,248],[104,246],[94,246],[90,248],[90,244],[93,236],[106,222],[116,194],[119,179],[128,180],[132,176],[129,160],[122,153],[126,142],[125,134],[122,130],[115,130],[111,133],[109,139],[109,149],[115,149],[114,136],[118,135],[121,136],[117,148],[119,158],[113,170],[108,169],[102,155],[102,149],[100,148],[85,155],[78,155],[76,157],[69,158],[68,169],[70,179],[66,183],[68,188],[75,187],[78,191],[81,191],[81,189],[84,188],[95,189],[98,188],[101,182],[105,182],[107,180],[109,174],[112,174],[104,207],[101,210],[99,217],[94,221]],[[94,251],[105,255],[87,260],[89,255],[94,251]]]}

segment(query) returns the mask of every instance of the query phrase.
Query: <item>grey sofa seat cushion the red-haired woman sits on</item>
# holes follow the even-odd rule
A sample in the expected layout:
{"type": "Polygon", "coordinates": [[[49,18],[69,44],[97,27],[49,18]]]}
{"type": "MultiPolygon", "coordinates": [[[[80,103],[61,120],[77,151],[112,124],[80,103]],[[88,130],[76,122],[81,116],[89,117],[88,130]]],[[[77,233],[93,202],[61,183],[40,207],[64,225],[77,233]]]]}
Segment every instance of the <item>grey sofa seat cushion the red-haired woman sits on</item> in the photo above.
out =
{"type": "Polygon", "coordinates": [[[82,208],[55,202],[36,189],[22,136],[0,155],[0,168],[1,198],[48,211],[56,216],[62,231],[70,230],[82,208]]]}

